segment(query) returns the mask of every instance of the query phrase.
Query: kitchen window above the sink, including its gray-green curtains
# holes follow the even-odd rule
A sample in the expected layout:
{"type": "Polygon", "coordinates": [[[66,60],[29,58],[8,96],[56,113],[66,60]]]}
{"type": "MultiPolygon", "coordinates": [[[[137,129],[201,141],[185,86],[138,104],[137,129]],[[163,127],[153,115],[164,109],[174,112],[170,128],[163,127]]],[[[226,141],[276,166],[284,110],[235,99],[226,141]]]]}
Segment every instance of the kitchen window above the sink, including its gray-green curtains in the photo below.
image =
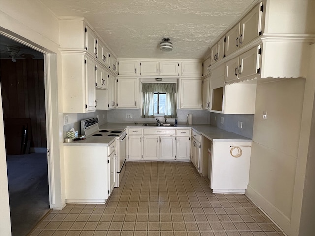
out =
{"type": "Polygon", "coordinates": [[[143,95],[142,118],[177,118],[176,83],[142,83],[143,95]]]}

